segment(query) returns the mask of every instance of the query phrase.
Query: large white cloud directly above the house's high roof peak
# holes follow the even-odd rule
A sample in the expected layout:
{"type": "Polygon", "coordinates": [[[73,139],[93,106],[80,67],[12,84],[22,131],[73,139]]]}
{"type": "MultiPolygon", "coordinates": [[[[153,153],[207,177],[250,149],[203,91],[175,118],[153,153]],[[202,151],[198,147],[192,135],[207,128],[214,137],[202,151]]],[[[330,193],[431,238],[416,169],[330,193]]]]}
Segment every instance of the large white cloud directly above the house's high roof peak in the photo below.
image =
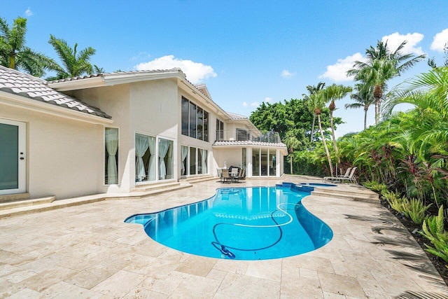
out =
{"type": "Polygon", "coordinates": [[[175,67],[180,67],[187,75],[187,79],[193,84],[200,83],[203,79],[218,76],[209,65],[191,60],[181,60],[175,58],[174,55],[166,55],[150,62],[142,62],[134,68],[143,71],[148,69],[174,69],[175,67]]]}

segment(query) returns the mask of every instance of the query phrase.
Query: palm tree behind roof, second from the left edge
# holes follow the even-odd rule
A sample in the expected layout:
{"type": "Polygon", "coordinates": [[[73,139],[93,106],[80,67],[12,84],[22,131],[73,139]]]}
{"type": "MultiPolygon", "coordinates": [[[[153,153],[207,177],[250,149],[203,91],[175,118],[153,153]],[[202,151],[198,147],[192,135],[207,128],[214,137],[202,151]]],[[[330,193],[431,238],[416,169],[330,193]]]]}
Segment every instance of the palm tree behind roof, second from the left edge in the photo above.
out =
{"type": "Polygon", "coordinates": [[[83,74],[93,74],[94,69],[90,64],[90,56],[94,55],[95,50],[92,47],[80,50],[78,53],[78,43],[70,48],[70,46],[63,39],[57,39],[50,34],[50,41],[48,43],[55,48],[57,55],[64,67],[57,65],[55,67],[56,76],[47,78],[48,81],[54,81],[64,78],[73,78],[82,76],[83,74]]]}

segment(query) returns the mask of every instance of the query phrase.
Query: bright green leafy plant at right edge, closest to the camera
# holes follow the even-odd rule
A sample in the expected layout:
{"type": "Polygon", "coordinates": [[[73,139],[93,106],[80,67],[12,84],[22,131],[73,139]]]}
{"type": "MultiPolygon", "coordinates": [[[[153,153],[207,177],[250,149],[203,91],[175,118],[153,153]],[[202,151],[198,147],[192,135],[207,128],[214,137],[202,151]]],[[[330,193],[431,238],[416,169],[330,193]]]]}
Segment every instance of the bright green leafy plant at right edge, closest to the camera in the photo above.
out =
{"type": "Polygon", "coordinates": [[[433,244],[433,246],[425,244],[425,250],[448,263],[448,232],[444,230],[443,221],[443,206],[441,206],[437,216],[423,221],[423,232],[420,233],[433,244]]]}

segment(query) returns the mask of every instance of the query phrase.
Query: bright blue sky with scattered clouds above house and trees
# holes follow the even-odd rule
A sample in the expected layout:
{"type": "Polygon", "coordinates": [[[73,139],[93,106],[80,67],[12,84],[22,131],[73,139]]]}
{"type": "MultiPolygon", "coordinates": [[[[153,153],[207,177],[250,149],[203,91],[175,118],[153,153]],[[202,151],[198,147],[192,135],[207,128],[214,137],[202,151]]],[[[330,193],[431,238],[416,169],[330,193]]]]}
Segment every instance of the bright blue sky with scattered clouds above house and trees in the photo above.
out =
{"type": "MultiPolygon", "coordinates": [[[[300,98],[344,76],[365,49],[408,40],[412,53],[442,64],[448,1],[22,1],[1,0],[1,18],[28,19],[27,46],[57,58],[50,34],[97,50],[106,71],[181,67],[206,83],[225,111],[249,116],[261,102],[300,98]]],[[[429,67],[420,62],[392,87],[429,67]]],[[[337,135],[363,129],[363,110],[345,110],[337,135]]],[[[406,109],[403,107],[402,109],[406,109]]],[[[374,123],[373,107],[367,116],[374,123]]]]}

